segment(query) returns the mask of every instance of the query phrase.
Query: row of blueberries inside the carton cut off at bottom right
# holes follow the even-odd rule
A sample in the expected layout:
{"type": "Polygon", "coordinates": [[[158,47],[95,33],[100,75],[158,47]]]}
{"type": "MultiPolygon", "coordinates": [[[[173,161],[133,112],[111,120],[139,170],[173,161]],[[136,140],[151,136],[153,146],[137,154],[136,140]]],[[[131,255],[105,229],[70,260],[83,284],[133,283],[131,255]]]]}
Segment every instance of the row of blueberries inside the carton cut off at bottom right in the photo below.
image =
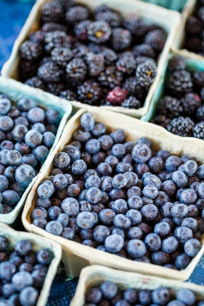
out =
{"type": "Polygon", "coordinates": [[[194,292],[190,289],[180,289],[176,293],[166,287],[155,290],[128,288],[120,290],[112,282],[104,282],[100,287],[92,287],[86,293],[84,306],[202,306],[203,300],[196,300],[194,292]]]}

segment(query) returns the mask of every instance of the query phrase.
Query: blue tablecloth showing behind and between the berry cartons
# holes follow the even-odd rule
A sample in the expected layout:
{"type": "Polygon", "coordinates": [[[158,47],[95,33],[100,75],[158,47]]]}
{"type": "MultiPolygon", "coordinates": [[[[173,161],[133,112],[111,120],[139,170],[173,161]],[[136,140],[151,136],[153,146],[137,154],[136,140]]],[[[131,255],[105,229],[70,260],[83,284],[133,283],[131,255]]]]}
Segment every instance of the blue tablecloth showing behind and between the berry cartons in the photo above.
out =
{"type": "MultiPolygon", "coordinates": [[[[18,36],[25,19],[28,17],[35,1],[0,0],[0,70],[8,60],[13,43],[18,36]]],[[[189,281],[198,285],[204,285],[204,256],[193,271],[189,281]]],[[[68,306],[72,299],[78,278],[66,279],[64,270],[57,274],[47,306],[68,306]]]]}

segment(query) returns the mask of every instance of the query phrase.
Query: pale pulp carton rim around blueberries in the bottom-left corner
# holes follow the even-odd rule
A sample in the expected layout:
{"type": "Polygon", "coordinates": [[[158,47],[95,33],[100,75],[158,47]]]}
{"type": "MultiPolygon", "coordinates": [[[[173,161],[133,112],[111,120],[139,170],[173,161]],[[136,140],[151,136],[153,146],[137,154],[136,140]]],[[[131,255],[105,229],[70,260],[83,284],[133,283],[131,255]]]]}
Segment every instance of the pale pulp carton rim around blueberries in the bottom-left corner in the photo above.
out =
{"type": "Polygon", "coordinates": [[[9,245],[12,248],[15,247],[19,240],[28,239],[33,245],[34,252],[38,252],[40,249],[47,249],[53,253],[54,258],[49,265],[48,272],[36,304],[36,306],[45,306],[49,296],[50,287],[53,283],[55,274],[57,273],[58,265],[62,256],[61,246],[57,242],[39,237],[34,234],[14,231],[11,227],[1,222],[0,233],[1,235],[8,238],[9,245]]]}

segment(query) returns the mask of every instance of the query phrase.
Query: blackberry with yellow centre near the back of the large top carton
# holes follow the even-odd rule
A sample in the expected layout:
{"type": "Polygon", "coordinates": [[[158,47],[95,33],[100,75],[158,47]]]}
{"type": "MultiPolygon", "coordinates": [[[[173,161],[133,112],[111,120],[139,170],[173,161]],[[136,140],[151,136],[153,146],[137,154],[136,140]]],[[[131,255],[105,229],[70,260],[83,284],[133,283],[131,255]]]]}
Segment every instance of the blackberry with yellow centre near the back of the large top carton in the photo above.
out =
{"type": "Polygon", "coordinates": [[[111,37],[111,28],[106,21],[91,22],[87,27],[89,40],[95,43],[105,43],[111,37]]]}

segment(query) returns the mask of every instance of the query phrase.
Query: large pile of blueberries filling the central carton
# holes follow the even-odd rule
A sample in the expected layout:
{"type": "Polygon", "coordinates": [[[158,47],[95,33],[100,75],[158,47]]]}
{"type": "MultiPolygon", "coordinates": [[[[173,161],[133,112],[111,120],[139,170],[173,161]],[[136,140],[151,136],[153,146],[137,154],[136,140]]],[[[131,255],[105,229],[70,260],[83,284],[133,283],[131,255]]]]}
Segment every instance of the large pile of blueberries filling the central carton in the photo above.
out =
{"type": "Polygon", "coordinates": [[[98,250],[182,270],[201,248],[204,164],[108,134],[90,113],[39,185],[34,225],[98,250]]]}

